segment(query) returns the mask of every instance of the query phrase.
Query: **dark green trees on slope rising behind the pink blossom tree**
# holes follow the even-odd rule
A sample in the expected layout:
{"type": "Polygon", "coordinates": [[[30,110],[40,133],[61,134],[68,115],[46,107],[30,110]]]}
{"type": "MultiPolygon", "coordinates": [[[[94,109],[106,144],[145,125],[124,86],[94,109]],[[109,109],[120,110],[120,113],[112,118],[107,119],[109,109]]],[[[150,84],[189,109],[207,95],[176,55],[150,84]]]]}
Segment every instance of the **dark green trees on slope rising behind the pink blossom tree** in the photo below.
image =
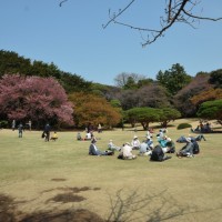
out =
{"type": "Polygon", "coordinates": [[[31,61],[12,51],[0,51],[0,78],[4,74],[21,74],[26,77],[56,78],[67,93],[91,90],[92,83],[78,74],[64,72],[54,63],[31,61]]]}

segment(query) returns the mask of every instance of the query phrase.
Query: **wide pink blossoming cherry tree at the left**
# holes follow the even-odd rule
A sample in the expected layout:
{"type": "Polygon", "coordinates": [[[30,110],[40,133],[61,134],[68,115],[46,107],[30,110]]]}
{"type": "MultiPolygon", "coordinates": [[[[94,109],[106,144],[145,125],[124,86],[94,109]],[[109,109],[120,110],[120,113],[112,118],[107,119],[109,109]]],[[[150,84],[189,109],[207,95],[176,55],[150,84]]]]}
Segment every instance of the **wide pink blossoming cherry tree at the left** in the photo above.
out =
{"type": "Polygon", "coordinates": [[[9,120],[73,124],[72,104],[53,78],[3,75],[0,80],[0,113],[9,120]]]}

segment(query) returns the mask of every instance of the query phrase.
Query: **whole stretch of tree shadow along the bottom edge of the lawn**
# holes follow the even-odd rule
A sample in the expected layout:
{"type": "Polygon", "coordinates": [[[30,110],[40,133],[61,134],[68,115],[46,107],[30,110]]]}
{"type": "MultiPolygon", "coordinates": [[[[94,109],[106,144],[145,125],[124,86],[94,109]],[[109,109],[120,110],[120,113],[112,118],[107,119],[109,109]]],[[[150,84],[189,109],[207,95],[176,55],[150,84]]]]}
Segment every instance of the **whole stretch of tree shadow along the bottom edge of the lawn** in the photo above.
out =
{"type": "MultiPolygon", "coordinates": [[[[65,193],[65,198],[67,195],[69,193],[65,193]]],[[[219,210],[204,209],[200,211],[194,206],[179,205],[167,190],[155,194],[141,194],[138,190],[123,191],[121,189],[113,195],[109,194],[109,199],[110,213],[107,219],[102,219],[87,209],[53,210],[24,214],[16,211],[17,202],[12,198],[0,194],[0,222],[159,222],[171,221],[172,219],[180,221],[180,216],[205,212],[206,210],[219,210]]]]}

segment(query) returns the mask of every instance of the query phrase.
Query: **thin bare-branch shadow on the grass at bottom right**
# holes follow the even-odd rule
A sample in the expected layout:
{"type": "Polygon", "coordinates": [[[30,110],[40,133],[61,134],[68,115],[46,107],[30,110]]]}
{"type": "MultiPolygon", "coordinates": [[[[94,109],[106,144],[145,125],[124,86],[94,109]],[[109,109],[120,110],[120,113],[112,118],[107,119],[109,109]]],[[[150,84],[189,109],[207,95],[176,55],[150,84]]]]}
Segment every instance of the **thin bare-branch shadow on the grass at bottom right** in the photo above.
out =
{"type": "Polygon", "coordinates": [[[153,194],[139,193],[138,190],[139,189],[127,191],[125,193],[123,189],[120,189],[117,191],[115,196],[109,194],[111,211],[107,222],[171,221],[172,219],[180,220],[180,216],[198,212],[219,210],[199,210],[194,205],[191,206],[184,203],[180,205],[178,201],[168,193],[168,190],[153,194]]]}

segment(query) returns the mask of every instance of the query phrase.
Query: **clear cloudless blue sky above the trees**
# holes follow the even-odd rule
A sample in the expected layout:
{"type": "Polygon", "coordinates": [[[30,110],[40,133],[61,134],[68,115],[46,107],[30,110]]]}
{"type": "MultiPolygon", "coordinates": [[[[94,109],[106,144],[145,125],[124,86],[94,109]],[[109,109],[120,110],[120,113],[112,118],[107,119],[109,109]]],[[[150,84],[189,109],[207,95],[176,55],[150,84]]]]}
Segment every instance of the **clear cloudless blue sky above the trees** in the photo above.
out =
{"type": "MultiPolygon", "coordinates": [[[[0,0],[0,49],[27,59],[53,62],[84,80],[114,84],[122,72],[155,79],[157,73],[180,63],[190,75],[222,68],[222,21],[201,21],[198,29],[176,24],[147,48],[131,29],[102,24],[108,11],[130,0],[0,0]]],[[[164,0],[138,0],[121,21],[158,28],[164,0]]],[[[198,13],[222,17],[221,0],[202,0],[198,13]]]]}

